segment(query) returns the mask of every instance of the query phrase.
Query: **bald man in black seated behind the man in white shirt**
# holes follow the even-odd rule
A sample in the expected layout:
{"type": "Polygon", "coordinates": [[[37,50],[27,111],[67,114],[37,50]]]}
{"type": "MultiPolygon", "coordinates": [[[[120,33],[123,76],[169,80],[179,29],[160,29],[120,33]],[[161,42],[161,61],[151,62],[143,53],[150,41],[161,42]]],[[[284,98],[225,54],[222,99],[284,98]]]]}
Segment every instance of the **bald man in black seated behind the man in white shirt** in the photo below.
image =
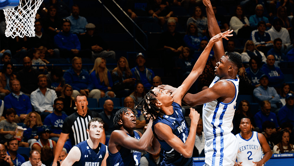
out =
{"type": "Polygon", "coordinates": [[[21,85],[21,91],[26,95],[30,95],[34,90],[38,88],[38,76],[39,71],[33,69],[31,58],[24,58],[24,69],[19,71],[16,78],[21,85]]]}

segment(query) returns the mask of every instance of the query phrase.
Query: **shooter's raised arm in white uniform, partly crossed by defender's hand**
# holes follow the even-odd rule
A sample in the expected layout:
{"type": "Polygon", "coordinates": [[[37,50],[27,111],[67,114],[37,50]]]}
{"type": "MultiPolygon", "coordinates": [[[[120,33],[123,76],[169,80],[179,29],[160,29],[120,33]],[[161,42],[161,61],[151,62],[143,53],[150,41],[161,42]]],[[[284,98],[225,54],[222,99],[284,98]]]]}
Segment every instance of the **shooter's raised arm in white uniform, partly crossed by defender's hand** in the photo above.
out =
{"type": "MultiPolygon", "coordinates": [[[[218,26],[218,22],[216,21],[216,16],[214,15],[210,0],[203,0],[203,4],[206,6],[208,32],[210,37],[213,37],[220,33],[220,28],[218,26]]],[[[218,62],[220,60],[220,57],[225,54],[222,40],[214,44],[213,51],[215,57],[217,58],[216,61],[218,62]]]]}

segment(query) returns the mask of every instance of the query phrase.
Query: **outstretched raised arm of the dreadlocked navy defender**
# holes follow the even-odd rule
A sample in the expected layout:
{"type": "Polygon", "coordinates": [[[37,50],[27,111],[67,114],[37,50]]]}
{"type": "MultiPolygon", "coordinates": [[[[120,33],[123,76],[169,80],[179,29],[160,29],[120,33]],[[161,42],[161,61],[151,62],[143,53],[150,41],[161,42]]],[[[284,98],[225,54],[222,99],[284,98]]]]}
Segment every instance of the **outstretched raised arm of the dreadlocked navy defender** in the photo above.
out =
{"type": "Polygon", "coordinates": [[[227,36],[233,36],[233,35],[230,35],[230,33],[232,32],[233,31],[228,30],[223,33],[218,33],[217,35],[213,36],[210,39],[206,48],[201,53],[200,57],[195,63],[189,76],[185,79],[182,85],[173,92],[173,98],[176,103],[181,103],[181,100],[186,94],[186,92],[188,91],[188,89],[192,86],[192,84],[196,81],[196,79],[202,74],[213,44],[220,41],[222,38],[225,38],[228,40],[227,36]]]}

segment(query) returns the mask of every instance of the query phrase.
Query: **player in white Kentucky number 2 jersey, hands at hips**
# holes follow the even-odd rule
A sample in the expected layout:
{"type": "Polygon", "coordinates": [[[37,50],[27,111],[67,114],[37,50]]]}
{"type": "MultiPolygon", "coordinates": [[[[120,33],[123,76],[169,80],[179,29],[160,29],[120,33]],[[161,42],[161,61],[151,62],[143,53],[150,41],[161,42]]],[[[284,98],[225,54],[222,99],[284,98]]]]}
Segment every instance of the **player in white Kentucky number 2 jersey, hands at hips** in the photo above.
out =
{"type": "Polygon", "coordinates": [[[252,124],[249,117],[244,117],[239,126],[241,132],[236,134],[238,140],[238,154],[235,166],[262,166],[272,157],[272,151],[263,134],[251,131],[252,124]],[[262,151],[264,156],[262,158],[262,151]]]}

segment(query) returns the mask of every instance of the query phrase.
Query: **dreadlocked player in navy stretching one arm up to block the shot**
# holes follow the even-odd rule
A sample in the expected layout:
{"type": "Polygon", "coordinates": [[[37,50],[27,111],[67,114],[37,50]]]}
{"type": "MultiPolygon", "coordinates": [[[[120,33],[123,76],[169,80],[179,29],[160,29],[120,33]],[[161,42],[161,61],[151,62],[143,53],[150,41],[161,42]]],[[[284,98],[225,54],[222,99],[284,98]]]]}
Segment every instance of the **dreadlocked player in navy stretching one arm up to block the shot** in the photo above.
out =
{"type": "Polygon", "coordinates": [[[147,118],[155,119],[152,130],[164,150],[164,159],[161,165],[193,165],[191,157],[200,114],[190,108],[191,128],[188,135],[181,110],[181,100],[202,73],[213,44],[222,38],[228,39],[226,36],[232,36],[231,32],[219,33],[211,38],[189,76],[172,94],[167,90],[155,88],[150,90],[139,103],[147,118]]]}

